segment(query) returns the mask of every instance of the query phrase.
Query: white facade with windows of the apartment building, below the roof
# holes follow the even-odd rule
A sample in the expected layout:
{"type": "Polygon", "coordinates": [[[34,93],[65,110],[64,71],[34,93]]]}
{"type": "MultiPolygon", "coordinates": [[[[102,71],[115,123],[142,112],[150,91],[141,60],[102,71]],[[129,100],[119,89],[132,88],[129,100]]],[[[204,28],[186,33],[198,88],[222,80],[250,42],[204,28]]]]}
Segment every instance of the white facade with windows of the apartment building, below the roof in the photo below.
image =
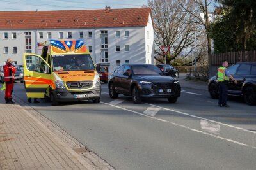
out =
{"type": "Polygon", "coordinates": [[[38,47],[38,43],[44,43],[50,39],[83,39],[91,52],[93,61],[108,67],[110,73],[117,66],[125,63],[153,64],[154,29],[150,13],[145,23],[141,26],[130,24],[124,27],[119,25],[104,27],[101,25],[100,27],[55,29],[29,29],[29,27],[1,29],[0,24],[0,65],[3,65],[8,58],[12,58],[15,64],[23,64],[23,53],[40,55],[42,47],[38,47]]]}

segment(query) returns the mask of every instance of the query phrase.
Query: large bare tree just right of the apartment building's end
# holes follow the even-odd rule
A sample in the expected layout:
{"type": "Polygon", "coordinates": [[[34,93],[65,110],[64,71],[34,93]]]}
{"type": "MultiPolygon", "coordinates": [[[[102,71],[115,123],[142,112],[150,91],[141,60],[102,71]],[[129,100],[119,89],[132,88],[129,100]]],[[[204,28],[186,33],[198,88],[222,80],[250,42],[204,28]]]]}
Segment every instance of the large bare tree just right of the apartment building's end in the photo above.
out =
{"type": "Polygon", "coordinates": [[[164,62],[161,46],[170,46],[167,63],[179,55],[186,57],[193,51],[194,30],[193,15],[186,9],[193,10],[192,0],[154,0],[148,1],[154,20],[155,59],[164,62]],[[180,6],[182,3],[182,6],[180,6]]]}

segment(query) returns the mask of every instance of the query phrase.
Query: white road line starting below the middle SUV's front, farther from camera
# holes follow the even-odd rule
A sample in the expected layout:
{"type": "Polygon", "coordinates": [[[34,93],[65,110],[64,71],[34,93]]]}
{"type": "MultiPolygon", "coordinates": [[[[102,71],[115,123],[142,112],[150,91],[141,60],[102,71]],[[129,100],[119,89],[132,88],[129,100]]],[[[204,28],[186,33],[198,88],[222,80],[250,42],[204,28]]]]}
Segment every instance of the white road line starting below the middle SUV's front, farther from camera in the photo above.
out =
{"type": "Polygon", "coordinates": [[[242,128],[242,127],[236,127],[236,126],[234,126],[234,125],[224,124],[224,123],[221,123],[221,122],[217,122],[217,121],[215,121],[215,120],[210,120],[210,119],[208,119],[208,118],[203,118],[203,117],[198,117],[198,116],[195,116],[195,115],[190,115],[189,113],[184,113],[184,112],[182,112],[182,111],[177,111],[177,110],[172,110],[172,109],[169,109],[169,108],[164,108],[164,107],[161,107],[161,106],[157,106],[157,105],[155,105],[155,104],[150,104],[150,103],[145,103],[145,102],[143,102],[143,103],[144,103],[144,104],[148,104],[149,106],[154,106],[154,107],[161,108],[161,109],[163,109],[163,110],[168,110],[168,111],[173,111],[173,112],[175,112],[175,113],[180,113],[181,115],[187,115],[187,116],[189,116],[189,117],[194,117],[194,118],[199,118],[199,119],[207,120],[207,121],[209,121],[209,122],[213,122],[213,123],[216,123],[216,124],[225,125],[225,126],[227,126],[227,127],[232,127],[232,128],[234,128],[234,129],[239,129],[239,130],[241,130],[241,131],[246,131],[246,132],[250,132],[250,133],[256,134],[256,131],[250,131],[250,130],[244,129],[244,128],[242,128]]]}

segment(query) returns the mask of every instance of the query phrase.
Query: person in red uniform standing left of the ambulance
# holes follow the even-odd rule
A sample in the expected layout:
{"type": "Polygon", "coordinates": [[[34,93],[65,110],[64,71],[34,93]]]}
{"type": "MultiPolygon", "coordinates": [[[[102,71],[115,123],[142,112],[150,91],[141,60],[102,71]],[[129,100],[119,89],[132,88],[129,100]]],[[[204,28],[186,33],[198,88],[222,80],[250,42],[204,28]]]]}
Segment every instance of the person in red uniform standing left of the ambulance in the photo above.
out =
{"type": "Polygon", "coordinates": [[[12,92],[14,84],[14,74],[16,72],[15,66],[12,64],[12,59],[7,59],[6,64],[4,65],[4,82],[6,84],[5,89],[5,103],[13,104],[12,101],[12,92]]]}

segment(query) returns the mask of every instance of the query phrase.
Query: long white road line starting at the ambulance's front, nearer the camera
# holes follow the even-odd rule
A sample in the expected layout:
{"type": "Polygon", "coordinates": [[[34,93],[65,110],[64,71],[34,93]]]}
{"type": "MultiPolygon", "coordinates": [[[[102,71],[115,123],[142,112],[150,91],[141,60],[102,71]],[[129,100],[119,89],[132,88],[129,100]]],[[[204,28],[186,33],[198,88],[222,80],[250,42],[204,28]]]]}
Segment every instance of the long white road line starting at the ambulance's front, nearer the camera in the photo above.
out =
{"type": "Polygon", "coordinates": [[[223,137],[218,136],[218,135],[216,135],[216,134],[209,134],[209,133],[207,133],[207,132],[199,131],[199,130],[197,130],[197,129],[193,129],[193,128],[187,127],[187,126],[185,126],[185,125],[176,124],[176,123],[174,123],[174,122],[170,122],[170,121],[168,121],[168,120],[163,120],[163,119],[157,118],[157,117],[151,117],[151,116],[149,116],[149,115],[145,115],[145,114],[140,113],[140,112],[138,112],[138,111],[129,110],[129,109],[126,109],[126,108],[122,108],[122,107],[120,107],[120,106],[115,106],[115,105],[113,105],[113,104],[104,103],[104,102],[102,102],[102,101],[100,101],[100,103],[107,104],[107,105],[109,105],[109,106],[113,106],[113,107],[119,108],[119,109],[121,109],[121,110],[130,111],[130,112],[132,112],[132,113],[136,113],[136,114],[141,115],[141,116],[144,116],[144,117],[153,118],[153,119],[159,120],[159,121],[161,121],[161,122],[166,122],[166,123],[169,123],[169,124],[172,124],[172,125],[177,125],[177,126],[179,126],[179,127],[183,127],[183,128],[185,128],[185,129],[189,129],[190,131],[194,131],[194,132],[198,132],[198,133],[200,133],[200,134],[205,134],[205,135],[207,135],[207,136],[212,136],[212,137],[214,137],[214,138],[222,139],[223,141],[228,141],[228,142],[230,142],[230,143],[236,143],[237,145],[248,146],[248,147],[250,147],[250,148],[256,149],[256,147],[254,147],[254,146],[250,146],[250,145],[248,145],[248,144],[241,143],[241,142],[239,142],[239,141],[234,141],[234,140],[232,140],[232,139],[223,138],[223,137]]]}

